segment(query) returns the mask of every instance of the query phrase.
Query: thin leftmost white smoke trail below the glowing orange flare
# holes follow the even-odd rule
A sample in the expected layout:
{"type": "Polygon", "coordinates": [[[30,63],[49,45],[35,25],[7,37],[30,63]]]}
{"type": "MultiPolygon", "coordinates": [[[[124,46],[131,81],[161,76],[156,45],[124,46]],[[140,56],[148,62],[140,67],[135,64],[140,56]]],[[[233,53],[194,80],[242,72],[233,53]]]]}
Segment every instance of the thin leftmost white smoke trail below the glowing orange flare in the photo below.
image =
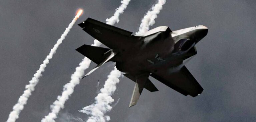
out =
{"type": "Polygon", "coordinates": [[[16,119],[19,118],[19,114],[20,114],[21,110],[23,110],[24,105],[27,104],[27,100],[28,100],[29,96],[31,95],[32,91],[35,90],[35,86],[39,82],[39,78],[42,76],[42,72],[44,72],[44,69],[47,66],[47,64],[49,63],[49,60],[52,59],[53,54],[55,54],[57,48],[62,43],[62,41],[65,39],[68,32],[73,27],[73,25],[75,24],[75,22],[78,18],[79,18],[79,16],[75,16],[75,18],[72,20],[72,22],[68,25],[68,28],[66,28],[66,30],[63,32],[61,37],[57,40],[57,43],[51,49],[50,53],[46,56],[46,59],[43,61],[43,64],[40,65],[39,70],[36,71],[32,80],[29,81],[30,84],[26,85],[26,90],[19,97],[18,103],[16,103],[13,106],[13,111],[9,114],[9,118],[7,119],[7,122],[15,122],[16,119]]]}

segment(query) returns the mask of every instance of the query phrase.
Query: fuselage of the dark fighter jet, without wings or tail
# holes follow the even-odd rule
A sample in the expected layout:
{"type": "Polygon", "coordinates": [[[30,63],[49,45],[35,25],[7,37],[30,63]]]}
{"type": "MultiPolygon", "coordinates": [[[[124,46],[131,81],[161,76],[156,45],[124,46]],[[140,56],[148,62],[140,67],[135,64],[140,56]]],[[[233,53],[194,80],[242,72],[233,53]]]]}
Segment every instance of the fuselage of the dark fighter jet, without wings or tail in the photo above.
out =
{"type": "Polygon", "coordinates": [[[116,55],[117,69],[140,74],[157,72],[167,66],[177,67],[196,54],[194,46],[207,32],[207,27],[199,25],[173,32],[160,31],[145,37],[134,36],[138,43],[116,55]]]}

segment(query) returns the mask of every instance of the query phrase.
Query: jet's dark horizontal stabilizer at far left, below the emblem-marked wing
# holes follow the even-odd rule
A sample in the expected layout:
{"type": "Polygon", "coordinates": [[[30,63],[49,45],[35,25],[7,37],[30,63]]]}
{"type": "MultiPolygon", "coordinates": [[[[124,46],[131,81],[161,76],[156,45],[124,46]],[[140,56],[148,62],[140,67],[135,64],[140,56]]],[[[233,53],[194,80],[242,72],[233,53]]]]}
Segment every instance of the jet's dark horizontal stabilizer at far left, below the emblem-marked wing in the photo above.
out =
{"type": "Polygon", "coordinates": [[[96,64],[100,64],[104,60],[104,54],[109,50],[110,49],[108,48],[91,46],[86,44],[76,49],[76,51],[80,52],[96,64]]]}

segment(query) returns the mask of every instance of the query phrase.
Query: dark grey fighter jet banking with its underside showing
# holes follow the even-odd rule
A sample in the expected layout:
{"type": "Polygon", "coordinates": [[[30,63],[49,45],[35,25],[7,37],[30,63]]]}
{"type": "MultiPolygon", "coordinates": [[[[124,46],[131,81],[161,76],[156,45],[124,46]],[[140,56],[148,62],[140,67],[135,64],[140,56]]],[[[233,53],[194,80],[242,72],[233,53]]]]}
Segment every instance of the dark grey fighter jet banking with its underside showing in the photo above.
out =
{"type": "Polygon", "coordinates": [[[160,26],[143,35],[134,35],[91,18],[78,25],[109,47],[84,44],[76,49],[98,64],[84,77],[106,62],[116,62],[116,68],[135,82],[129,107],[136,105],[143,88],[158,91],[149,76],[186,96],[202,93],[203,88],[183,63],[197,54],[195,44],[207,35],[207,27],[199,25],[172,31],[167,26],[160,26]]]}

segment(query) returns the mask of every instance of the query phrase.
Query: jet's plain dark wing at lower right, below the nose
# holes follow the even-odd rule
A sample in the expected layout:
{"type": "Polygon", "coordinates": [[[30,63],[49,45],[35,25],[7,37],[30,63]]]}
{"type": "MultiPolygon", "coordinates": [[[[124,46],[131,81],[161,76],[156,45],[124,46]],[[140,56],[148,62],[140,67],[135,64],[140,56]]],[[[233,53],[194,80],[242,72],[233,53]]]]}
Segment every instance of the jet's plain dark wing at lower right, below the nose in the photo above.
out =
{"type": "Polygon", "coordinates": [[[159,70],[150,76],[186,96],[195,97],[203,91],[203,88],[185,66],[179,71],[172,71],[171,69],[159,70]]]}

